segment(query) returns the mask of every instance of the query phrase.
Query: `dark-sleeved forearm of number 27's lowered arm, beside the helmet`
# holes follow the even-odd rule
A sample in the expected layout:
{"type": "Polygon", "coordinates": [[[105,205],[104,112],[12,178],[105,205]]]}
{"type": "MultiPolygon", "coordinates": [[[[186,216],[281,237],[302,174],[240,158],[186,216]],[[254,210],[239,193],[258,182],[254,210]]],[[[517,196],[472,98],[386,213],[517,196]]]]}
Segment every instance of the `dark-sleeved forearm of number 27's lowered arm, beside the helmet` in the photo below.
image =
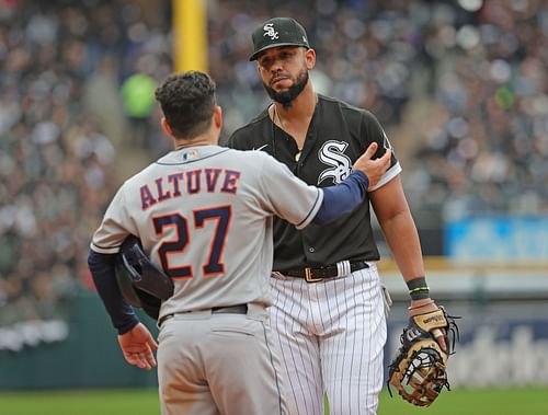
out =
{"type": "Polygon", "coordinates": [[[139,319],[132,307],[122,298],[116,283],[114,258],[115,255],[99,254],[90,250],[88,266],[113,325],[118,334],[124,334],[132,330],[139,322],[139,319]]]}

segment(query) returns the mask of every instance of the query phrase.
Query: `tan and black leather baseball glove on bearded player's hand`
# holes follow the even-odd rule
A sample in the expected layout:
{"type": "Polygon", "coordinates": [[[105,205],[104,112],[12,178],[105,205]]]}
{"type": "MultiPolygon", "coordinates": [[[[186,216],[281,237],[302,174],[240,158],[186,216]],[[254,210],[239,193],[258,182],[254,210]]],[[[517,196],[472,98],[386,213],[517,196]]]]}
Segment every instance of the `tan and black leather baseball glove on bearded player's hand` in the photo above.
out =
{"type": "Polygon", "coordinates": [[[389,366],[387,385],[390,396],[390,385],[393,385],[406,401],[416,406],[430,406],[444,387],[449,390],[446,365],[449,355],[454,354],[455,337],[458,339],[455,319],[458,318],[447,315],[443,307],[410,318],[409,326],[400,336],[401,347],[389,366]],[[445,337],[447,351],[434,338],[439,331],[445,337]]]}

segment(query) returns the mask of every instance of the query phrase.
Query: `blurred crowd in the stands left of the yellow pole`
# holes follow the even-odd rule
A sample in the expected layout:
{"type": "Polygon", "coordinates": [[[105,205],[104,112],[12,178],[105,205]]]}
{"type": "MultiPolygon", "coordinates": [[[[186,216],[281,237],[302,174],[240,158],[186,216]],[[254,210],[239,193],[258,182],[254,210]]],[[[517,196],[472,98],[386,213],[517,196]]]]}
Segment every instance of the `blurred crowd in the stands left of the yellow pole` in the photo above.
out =
{"type": "Polygon", "coordinates": [[[153,115],[124,82],[171,68],[158,33],[133,1],[0,0],[0,326],[66,319],[89,285],[119,146],[153,115]]]}

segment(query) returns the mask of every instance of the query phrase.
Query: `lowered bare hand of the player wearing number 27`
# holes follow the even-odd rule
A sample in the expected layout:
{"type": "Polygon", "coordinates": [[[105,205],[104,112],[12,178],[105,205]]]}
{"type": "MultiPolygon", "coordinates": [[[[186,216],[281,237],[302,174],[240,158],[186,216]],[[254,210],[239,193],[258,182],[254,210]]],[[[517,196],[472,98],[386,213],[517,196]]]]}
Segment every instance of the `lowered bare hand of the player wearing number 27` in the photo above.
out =
{"type": "Polygon", "coordinates": [[[158,344],[145,324],[138,323],[129,332],[119,334],[118,344],[129,365],[146,370],[156,367],[152,350],[158,349],[158,344]]]}

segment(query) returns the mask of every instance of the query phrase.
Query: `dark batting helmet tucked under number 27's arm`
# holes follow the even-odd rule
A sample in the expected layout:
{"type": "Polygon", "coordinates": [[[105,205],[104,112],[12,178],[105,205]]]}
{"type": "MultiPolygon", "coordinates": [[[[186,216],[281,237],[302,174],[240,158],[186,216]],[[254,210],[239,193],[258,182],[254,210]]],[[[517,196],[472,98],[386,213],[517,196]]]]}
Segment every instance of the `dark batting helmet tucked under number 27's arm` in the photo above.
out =
{"type": "Polygon", "coordinates": [[[158,320],[160,306],[173,295],[173,281],[150,262],[138,238],[126,238],[116,255],[116,280],[125,300],[158,320]]]}

